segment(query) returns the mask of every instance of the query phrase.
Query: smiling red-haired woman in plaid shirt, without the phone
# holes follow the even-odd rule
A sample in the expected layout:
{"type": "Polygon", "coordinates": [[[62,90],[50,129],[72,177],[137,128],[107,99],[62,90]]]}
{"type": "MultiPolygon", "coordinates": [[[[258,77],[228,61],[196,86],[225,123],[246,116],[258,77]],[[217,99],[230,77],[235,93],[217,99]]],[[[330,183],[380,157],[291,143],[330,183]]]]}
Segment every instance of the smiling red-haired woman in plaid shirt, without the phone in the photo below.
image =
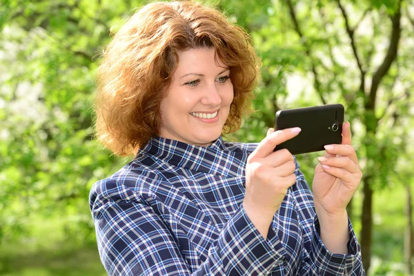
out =
{"type": "Polygon", "coordinates": [[[117,32],[97,75],[97,136],[136,154],[90,191],[109,275],[364,275],[346,205],[362,173],[349,124],[326,147],[313,194],[299,128],[228,143],[248,112],[259,59],[212,8],[152,3],[117,32]]]}

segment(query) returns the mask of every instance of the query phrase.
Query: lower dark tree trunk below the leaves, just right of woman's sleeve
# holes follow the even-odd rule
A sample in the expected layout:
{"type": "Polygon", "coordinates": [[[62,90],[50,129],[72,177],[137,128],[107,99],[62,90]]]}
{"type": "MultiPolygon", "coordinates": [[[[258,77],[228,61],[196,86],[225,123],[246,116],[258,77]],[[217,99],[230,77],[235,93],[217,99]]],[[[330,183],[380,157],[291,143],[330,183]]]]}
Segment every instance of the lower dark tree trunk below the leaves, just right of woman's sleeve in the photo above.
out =
{"type": "Polygon", "coordinates": [[[373,190],[370,187],[371,177],[364,177],[364,201],[362,203],[362,230],[361,230],[361,253],[362,263],[368,275],[371,266],[371,240],[373,228],[373,190]]]}

